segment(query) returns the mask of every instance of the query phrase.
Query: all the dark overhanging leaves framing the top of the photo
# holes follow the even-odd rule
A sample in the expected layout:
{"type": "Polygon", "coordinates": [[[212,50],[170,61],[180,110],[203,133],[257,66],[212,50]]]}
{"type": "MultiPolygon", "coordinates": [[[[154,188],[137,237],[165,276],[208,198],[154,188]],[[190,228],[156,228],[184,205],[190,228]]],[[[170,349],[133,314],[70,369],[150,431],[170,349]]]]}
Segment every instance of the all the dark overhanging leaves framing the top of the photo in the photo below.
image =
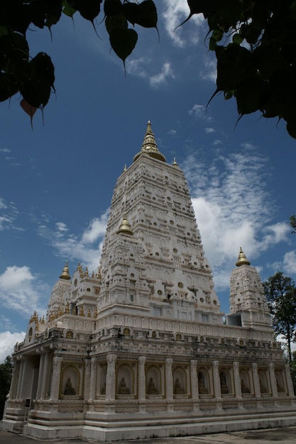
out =
{"type": "MultiPolygon", "coordinates": [[[[185,1],[185,0],[184,0],[185,1]]],[[[32,26],[50,32],[63,14],[75,13],[94,26],[103,0],[1,0],[0,101],[21,93],[21,106],[33,117],[54,91],[50,57],[29,54],[26,34],[32,26]]],[[[205,40],[216,54],[216,91],[236,100],[239,118],[260,111],[283,118],[296,138],[296,0],[187,0],[189,16],[203,14],[205,40]]],[[[135,48],[135,25],[156,28],[153,0],[104,0],[104,23],[111,48],[125,64],[135,48]]],[[[181,26],[180,25],[180,26],[181,26]]],[[[94,26],[94,29],[95,26],[94,26]]]]}

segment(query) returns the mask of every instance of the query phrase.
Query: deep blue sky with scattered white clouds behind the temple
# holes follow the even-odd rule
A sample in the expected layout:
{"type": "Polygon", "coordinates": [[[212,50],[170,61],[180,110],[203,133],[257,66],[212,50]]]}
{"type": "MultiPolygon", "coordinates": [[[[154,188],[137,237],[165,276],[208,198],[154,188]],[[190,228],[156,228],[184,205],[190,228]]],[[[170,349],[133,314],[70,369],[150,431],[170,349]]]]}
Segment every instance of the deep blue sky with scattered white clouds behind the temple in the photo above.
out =
{"type": "MultiPolygon", "coordinates": [[[[296,278],[296,141],[285,123],[244,116],[216,96],[215,63],[202,17],[172,32],[186,0],[155,1],[155,30],[139,29],[126,60],[110,51],[104,23],[75,15],[28,35],[31,55],[55,65],[56,95],[33,131],[16,95],[0,104],[0,361],[22,340],[34,310],[46,312],[65,260],[95,270],[114,184],[141,149],[148,119],[158,148],[190,185],[222,311],[242,246],[263,280],[296,278]]],[[[99,18],[101,21],[102,18],[99,18]]]]}

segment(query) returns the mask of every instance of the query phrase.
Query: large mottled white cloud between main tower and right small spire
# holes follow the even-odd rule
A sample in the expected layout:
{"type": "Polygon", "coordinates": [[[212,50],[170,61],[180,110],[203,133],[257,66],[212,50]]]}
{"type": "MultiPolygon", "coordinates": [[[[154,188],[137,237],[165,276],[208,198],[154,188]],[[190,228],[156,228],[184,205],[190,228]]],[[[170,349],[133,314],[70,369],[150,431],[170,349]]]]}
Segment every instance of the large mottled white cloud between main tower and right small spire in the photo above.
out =
{"type": "MultiPolygon", "coordinates": [[[[182,165],[218,289],[229,287],[239,247],[253,260],[263,250],[285,241],[289,232],[286,223],[268,225],[272,204],[264,182],[266,160],[254,154],[253,145],[244,148],[242,153],[219,155],[209,165],[202,165],[194,156],[182,165]]],[[[292,264],[291,257],[287,256],[287,263],[292,264]]]]}

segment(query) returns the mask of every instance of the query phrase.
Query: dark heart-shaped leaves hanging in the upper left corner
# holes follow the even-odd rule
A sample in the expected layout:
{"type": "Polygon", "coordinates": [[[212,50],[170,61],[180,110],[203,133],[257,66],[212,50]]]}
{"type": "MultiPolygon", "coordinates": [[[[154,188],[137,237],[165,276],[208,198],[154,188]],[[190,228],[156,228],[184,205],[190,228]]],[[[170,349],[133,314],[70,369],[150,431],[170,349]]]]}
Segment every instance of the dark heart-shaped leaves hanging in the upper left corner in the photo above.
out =
{"type": "MultiPolygon", "coordinates": [[[[80,13],[94,26],[101,4],[102,0],[1,0],[0,101],[20,93],[21,106],[31,119],[37,109],[43,110],[50,92],[55,91],[54,66],[45,52],[31,57],[27,33],[34,26],[51,32],[62,13],[72,19],[75,13],[80,13]]],[[[153,0],[140,4],[104,0],[104,19],[111,48],[125,64],[138,39],[136,30],[128,24],[157,29],[158,15],[153,0]]]]}

